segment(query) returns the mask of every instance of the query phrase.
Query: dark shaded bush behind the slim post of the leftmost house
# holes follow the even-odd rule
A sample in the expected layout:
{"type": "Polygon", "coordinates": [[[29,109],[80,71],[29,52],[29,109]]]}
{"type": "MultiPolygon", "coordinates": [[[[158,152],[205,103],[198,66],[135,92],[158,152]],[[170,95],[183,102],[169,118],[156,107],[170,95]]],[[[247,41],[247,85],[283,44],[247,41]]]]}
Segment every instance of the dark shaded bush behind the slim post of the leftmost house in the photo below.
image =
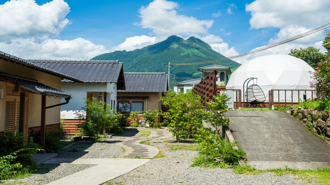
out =
{"type": "MultiPolygon", "coordinates": [[[[41,135],[40,130],[32,133],[33,143],[40,143],[40,135],[41,135]]],[[[55,152],[59,152],[60,150],[63,149],[65,144],[60,141],[59,135],[61,135],[61,132],[52,133],[52,132],[49,132],[48,130],[46,130],[46,132],[45,132],[45,150],[47,153],[55,153],[55,152]]]]}

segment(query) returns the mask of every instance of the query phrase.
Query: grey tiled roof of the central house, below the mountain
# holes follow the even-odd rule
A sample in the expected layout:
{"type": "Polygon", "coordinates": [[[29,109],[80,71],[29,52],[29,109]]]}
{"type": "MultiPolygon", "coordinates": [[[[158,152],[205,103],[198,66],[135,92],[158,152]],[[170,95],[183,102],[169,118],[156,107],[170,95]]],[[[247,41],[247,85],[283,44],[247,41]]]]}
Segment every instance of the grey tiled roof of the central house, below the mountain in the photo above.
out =
{"type": "Polygon", "coordinates": [[[118,92],[166,92],[168,74],[124,73],[126,90],[118,92]]]}

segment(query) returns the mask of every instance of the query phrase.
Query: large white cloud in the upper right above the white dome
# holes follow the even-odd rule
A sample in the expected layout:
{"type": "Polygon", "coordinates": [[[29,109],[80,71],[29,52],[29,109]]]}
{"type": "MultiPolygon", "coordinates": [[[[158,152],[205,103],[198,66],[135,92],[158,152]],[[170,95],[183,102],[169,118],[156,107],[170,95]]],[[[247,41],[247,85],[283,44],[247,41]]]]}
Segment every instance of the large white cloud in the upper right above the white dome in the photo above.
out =
{"type": "MultiPolygon", "coordinates": [[[[280,29],[273,38],[269,39],[267,45],[271,45],[330,22],[330,17],[327,16],[328,7],[330,7],[330,1],[322,0],[255,0],[245,6],[245,11],[252,16],[249,20],[251,29],[271,27],[280,29]]],[[[266,33],[267,31],[262,30],[262,34],[266,33]]],[[[324,52],[322,45],[318,44],[324,37],[324,33],[319,31],[246,58],[252,59],[256,56],[277,53],[285,55],[290,52],[290,49],[308,46],[324,52]]]]}

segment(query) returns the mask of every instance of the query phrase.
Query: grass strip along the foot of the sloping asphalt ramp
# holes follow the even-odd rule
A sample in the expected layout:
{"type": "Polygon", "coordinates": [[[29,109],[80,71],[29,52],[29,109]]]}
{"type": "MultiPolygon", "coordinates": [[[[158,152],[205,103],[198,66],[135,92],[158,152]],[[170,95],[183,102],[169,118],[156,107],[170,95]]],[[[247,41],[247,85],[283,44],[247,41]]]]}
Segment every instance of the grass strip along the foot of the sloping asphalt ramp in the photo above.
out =
{"type": "Polygon", "coordinates": [[[234,173],[237,174],[250,174],[250,175],[258,175],[264,172],[273,172],[275,175],[285,175],[292,174],[298,176],[300,179],[307,181],[312,184],[330,184],[330,166],[325,168],[319,168],[317,170],[311,169],[292,169],[288,168],[276,168],[276,169],[267,169],[267,170],[256,170],[250,165],[245,166],[237,166],[233,169],[234,173]]]}

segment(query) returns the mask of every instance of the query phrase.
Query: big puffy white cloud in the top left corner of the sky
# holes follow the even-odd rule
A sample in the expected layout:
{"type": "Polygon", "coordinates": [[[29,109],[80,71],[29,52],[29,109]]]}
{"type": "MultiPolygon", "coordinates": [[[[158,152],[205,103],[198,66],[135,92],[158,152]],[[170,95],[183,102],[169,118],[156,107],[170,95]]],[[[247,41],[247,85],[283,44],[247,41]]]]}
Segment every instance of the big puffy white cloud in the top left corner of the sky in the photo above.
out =
{"type": "Polygon", "coordinates": [[[70,8],[63,0],[42,6],[33,0],[9,1],[0,5],[0,41],[12,38],[58,36],[69,24],[70,8]]]}

